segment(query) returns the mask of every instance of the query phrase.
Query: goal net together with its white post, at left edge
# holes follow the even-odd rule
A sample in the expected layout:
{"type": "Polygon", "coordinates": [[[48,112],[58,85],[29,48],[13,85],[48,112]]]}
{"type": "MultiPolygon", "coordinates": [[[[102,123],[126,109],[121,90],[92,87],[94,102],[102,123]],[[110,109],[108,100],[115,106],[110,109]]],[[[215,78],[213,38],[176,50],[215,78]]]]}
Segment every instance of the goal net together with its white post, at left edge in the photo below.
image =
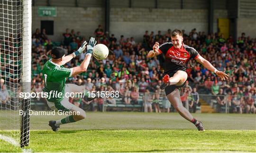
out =
{"type": "Polygon", "coordinates": [[[0,138],[21,147],[29,144],[29,116],[19,111],[30,99],[19,92],[30,92],[31,14],[31,0],[0,0],[0,138]]]}

